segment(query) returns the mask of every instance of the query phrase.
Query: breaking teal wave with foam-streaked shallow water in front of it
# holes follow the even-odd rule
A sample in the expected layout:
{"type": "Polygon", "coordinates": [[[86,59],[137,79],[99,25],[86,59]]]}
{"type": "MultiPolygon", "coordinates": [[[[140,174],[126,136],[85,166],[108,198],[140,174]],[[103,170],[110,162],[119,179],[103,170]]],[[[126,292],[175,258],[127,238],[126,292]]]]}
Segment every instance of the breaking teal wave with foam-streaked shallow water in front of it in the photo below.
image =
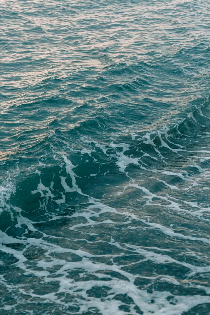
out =
{"type": "Polygon", "coordinates": [[[1,261],[12,264],[1,281],[18,298],[15,307],[30,298],[35,312],[47,303],[78,313],[100,299],[101,312],[170,313],[171,305],[177,314],[192,306],[205,312],[209,117],[206,98],[170,127],[131,126],[109,144],[84,136],[74,146],[63,142],[54,159],[18,167],[0,190],[1,261]]]}

